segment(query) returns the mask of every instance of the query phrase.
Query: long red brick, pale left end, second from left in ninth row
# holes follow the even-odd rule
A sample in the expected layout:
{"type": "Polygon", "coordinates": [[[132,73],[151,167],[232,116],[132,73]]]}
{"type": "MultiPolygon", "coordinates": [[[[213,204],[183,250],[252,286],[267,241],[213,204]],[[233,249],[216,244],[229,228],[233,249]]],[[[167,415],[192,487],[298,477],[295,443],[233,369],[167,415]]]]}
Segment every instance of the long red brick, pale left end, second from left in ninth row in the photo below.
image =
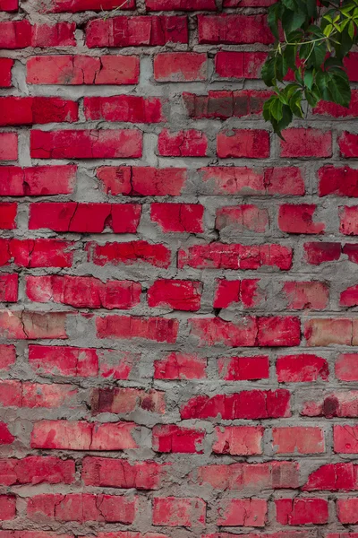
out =
{"type": "Polygon", "coordinates": [[[36,302],[57,302],[76,308],[121,308],[140,303],[141,284],[132,281],[102,282],[91,276],[27,276],[26,294],[36,302]]]}

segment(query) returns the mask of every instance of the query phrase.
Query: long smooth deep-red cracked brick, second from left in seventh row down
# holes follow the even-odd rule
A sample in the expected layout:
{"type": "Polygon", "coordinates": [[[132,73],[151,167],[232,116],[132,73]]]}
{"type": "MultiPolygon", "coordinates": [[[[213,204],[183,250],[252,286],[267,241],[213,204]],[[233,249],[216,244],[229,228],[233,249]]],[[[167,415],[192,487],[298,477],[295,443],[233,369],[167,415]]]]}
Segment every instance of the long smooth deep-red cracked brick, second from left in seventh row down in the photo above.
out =
{"type": "Polygon", "coordinates": [[[30,204],[29,230],[100,233],[135,233],[141,220],[139,204],[79,204],[77,202],[30,204]]]}

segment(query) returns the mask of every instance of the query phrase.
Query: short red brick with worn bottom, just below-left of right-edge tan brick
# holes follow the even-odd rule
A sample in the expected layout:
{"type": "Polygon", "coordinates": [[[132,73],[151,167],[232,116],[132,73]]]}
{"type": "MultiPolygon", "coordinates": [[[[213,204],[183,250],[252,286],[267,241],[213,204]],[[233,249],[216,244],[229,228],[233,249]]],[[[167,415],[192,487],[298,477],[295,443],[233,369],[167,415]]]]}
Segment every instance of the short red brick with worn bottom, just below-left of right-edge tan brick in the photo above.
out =
{"type": "Polygon", "coordinates": [[[278,357],[276,371],[279,383],[328,381],[329,376],[327,360],[308,353],[278,357]]]}

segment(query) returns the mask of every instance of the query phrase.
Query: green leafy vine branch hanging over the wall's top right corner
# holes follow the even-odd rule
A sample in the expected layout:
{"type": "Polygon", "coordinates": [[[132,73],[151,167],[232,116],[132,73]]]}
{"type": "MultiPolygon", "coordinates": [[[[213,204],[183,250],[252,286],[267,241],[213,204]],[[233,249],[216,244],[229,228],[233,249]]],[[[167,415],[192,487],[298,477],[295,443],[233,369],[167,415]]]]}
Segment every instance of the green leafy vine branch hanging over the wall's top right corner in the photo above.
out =
{"type": "Polygon", "coordinates": [[[263,116],[275,133],[304,117],[304,110],[326,100],[348,108],[351,89],[344,59],[357,42],[358,0],[279,0],[268,10],[276,38],[262,67],[274,95],[263,116]],[[286,82],[292,71],[294,82],[286,82]]]}

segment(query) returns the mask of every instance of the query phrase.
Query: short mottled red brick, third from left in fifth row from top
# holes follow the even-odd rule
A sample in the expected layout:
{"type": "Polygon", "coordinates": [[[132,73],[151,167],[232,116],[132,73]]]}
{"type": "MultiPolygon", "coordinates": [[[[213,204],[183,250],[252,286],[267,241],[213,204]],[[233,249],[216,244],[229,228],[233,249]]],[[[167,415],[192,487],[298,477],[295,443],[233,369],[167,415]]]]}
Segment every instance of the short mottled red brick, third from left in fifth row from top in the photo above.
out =
{"type": "Polygon", "coordinates": [[[158,153],[166,157],[206,157],[208,138],[195,129],[171,133],[168,129],[158,136],[158,153]]]}

